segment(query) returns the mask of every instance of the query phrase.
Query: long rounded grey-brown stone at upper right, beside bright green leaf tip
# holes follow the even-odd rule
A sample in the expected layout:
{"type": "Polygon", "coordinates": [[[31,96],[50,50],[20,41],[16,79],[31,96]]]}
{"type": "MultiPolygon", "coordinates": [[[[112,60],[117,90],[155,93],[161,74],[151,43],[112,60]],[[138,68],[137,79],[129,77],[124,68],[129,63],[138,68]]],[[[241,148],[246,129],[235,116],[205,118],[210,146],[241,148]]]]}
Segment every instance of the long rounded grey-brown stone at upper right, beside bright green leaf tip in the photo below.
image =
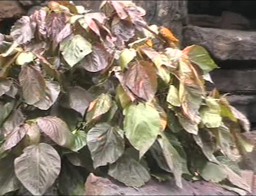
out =
{"type": "Polygon", "coordinates": [[[217,60],[256,60],[256,32],[187,26],[183,45],[205,47],[217,60]]]}

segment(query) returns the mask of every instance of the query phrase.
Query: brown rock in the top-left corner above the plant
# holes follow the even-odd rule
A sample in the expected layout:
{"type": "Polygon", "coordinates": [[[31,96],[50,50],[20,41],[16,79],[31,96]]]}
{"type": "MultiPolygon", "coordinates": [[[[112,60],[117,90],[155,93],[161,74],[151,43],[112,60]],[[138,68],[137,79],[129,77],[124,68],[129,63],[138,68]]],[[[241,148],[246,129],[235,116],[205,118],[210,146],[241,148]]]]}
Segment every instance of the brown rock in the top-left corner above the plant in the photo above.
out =
{"type": "Polygon", "coordinates": [[[0,21],[7,18],[18,18],[26,14],[18,1],[0,1],[0,21]]]}

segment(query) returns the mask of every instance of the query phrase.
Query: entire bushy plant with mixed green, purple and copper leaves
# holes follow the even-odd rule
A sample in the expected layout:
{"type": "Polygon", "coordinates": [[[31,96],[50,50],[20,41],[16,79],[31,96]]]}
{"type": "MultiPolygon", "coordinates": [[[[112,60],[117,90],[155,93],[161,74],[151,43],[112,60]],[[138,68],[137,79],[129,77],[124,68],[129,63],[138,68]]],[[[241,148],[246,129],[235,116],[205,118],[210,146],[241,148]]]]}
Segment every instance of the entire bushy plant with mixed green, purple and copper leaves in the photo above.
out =
{"type": "Polygon", "coordinates": [[[250,124],[206,90],[218,68],[208,52],[179,49],[132,1],[101,10],[53,1],[1,39],[0,194],[56,183],[81,195],[86,171],[128,186],[199,175],[250,192],[236,166],[253,150],[250,124]]]}

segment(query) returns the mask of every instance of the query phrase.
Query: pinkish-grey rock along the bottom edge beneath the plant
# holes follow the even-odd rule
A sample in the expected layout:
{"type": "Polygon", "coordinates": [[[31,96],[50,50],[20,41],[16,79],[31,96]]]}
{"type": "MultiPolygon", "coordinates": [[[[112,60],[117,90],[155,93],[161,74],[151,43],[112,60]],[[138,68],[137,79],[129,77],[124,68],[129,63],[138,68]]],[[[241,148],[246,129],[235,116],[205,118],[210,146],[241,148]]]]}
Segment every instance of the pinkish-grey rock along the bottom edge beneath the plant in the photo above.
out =
{"type": "Polygon", "coordinates": [[[151,179],[140,188],[127,187],[113,179],[90,174],[85,183],[85,195],[237,195],[210,182],[183,180],[183,189],[174,180],[158,182],[151,179]]]}

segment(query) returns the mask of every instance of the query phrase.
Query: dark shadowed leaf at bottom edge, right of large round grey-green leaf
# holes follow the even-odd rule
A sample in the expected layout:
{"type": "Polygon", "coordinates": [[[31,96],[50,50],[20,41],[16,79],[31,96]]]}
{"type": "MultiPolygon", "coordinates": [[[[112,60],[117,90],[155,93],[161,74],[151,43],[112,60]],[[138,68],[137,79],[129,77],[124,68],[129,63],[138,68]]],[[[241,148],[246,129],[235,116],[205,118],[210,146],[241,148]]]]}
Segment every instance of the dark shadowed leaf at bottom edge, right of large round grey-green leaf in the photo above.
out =
{"type": "Polygon", "coordinates": [[[85,179],[77,167],[65,160],[58,178],[58,189],[62,195],[84,195],[85,179]]]}

